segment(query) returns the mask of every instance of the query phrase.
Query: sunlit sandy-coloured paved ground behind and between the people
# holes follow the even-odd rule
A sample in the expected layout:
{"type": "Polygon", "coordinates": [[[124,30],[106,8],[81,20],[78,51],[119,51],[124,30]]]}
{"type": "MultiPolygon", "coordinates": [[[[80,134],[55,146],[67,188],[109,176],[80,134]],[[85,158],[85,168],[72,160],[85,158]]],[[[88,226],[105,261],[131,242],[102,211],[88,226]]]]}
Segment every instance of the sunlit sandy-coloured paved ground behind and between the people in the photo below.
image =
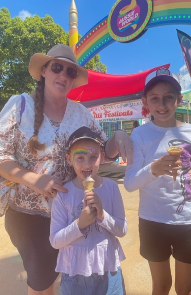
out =
{"type": "MultiPolygon", "coordinates": [[[[100,168],[103,172],[116,173],[112,179],[119,185],[125,213],[128,221],[128,232],[120,238],[126,260],[122,261],[125,287],[127,295],[151,295],[152,281],[147,261],[139,255],[139,234],[138,234],[138,191],[128,193],[123,187],[125,165],[103,164],[100,168]]],[[[107,173],[106,173],[107,174],[107,173]]],[[[1,295],[27,295],[26,272],[24,271],[21,258],[16,248],[11,244],[9,236],[4,229],[4,217],[0,218],[0,294],[1,295]]],[[[174,260],[171,260],[172,277],[174,283],[174,260]]],[[[55,295],[59,294],[59,281],[55,286],[55,295]]],[[[170,295],[175,295],[174,286],[170,295]]],[[[79,294],[81,295],[81,294],[79,294]]]]}

